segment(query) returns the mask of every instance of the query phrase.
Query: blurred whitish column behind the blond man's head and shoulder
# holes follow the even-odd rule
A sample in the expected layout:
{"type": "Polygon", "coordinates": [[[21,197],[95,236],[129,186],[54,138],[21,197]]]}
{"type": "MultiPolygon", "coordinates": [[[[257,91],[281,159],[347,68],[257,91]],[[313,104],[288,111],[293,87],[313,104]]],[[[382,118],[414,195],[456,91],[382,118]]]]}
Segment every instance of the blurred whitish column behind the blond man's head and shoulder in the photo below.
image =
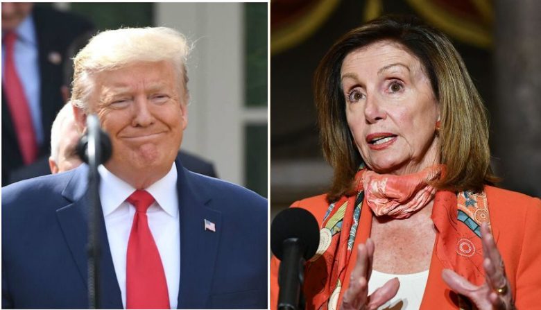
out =
{"type": "Polygon", "coordinates": [[[242,3],[155,3],[155,21],[194,43],[181,148],[214,162],[220,178],[243,184],[242,3]]]}

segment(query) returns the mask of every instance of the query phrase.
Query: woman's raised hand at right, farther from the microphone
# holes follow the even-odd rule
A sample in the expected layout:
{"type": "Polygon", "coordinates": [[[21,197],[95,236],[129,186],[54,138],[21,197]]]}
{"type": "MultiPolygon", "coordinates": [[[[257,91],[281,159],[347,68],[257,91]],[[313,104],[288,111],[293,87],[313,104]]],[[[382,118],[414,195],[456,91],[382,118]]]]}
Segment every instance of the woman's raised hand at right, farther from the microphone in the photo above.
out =
{"type": "Polygon", "coordinates": [[[452,270],[443,270],[443,281],[456,293],[470,298],[479,310],[511,310],[515,309],[515,302],[511,295],[507,281],[504,261],[496,248],[494,236],[488,227],[481,225],[481,242],[483,243],[483,268],[486,282],[475,286],[452,270]]]}

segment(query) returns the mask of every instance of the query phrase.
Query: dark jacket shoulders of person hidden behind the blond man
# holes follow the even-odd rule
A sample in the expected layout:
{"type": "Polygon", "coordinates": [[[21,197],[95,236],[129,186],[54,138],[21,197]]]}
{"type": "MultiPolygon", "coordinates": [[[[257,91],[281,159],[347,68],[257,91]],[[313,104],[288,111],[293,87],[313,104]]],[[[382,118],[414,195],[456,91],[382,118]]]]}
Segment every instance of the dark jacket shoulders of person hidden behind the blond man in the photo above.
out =
{"type": "MultiPolygon", "coordinates": [[[[196,155],[184,152],[184,150],[181,150],[178,153],[178,157],[180,162],[182,162],[182,166],[189,171],[208,175],[212,178],[218,178],[212,162],[207,162],[196,155]]],[[[8,178],[8,184],[47,174],[51,174],[51,169],[49,168],[49,156],[43,156],[28,166],[22,166],[19,169],[11,171],[8,178]]]]}

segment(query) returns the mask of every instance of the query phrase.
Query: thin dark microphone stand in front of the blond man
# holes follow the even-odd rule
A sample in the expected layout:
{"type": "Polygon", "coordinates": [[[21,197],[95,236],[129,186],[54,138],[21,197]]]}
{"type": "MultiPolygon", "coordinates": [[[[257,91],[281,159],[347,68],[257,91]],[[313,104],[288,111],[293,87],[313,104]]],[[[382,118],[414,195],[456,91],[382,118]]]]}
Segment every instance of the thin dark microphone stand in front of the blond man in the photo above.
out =
{"type": "Polygon", "coordinates": [[[100,175],[98,166],[101,164],[101,135],[98,117],[90,114],[87,117],[88,130],[88,187],[90,214],[88,221],[88,302],[89,309],[99,309],[99,257],[100,238],[99,224],[101,212],[99,198],[100,175]]]}

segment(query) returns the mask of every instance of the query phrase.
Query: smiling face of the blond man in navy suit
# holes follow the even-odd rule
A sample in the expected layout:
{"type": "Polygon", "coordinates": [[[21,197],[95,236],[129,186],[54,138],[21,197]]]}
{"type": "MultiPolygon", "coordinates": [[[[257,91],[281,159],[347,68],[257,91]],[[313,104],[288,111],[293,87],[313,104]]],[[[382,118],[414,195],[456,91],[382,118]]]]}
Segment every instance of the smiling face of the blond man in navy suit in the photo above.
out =
{"type": "Polygon", "coordinates": [[[173,65],[139,62],[96,74],[94,81],[89,110],[98,114],[113,148],[105,167],[139,189],[160,180],[187,126],[184,89],[173,65]]]}

